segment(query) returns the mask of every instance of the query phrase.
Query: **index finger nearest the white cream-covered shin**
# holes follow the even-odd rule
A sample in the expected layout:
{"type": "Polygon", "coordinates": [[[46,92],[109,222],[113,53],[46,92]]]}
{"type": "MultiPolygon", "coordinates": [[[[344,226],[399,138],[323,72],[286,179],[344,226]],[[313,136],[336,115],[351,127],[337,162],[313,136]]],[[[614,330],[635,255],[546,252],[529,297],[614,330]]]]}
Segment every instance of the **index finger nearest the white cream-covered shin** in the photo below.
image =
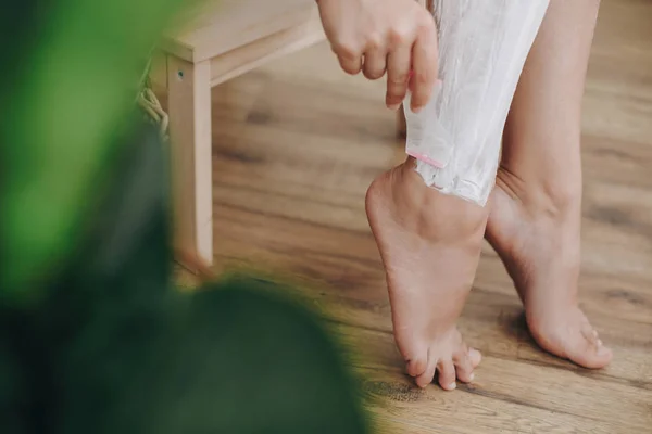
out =
{"type": "Polygon", "coordinates": [[[419,27],[416,41],[412,47],[411,110],[419,112],[430,100],[437,81],[438,44],[432,17],[419,27]],[[427,23],[427,24],[426,24],[427,23]]]}

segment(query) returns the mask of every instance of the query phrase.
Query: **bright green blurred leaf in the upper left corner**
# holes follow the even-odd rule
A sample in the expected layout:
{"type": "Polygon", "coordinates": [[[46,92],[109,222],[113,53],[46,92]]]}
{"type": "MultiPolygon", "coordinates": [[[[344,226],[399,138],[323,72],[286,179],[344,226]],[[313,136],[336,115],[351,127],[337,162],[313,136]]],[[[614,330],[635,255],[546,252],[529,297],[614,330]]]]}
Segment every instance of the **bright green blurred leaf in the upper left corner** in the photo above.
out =
{"type": "MultiPolygon", "coordinates": [[[[193,1],[186,2],[193,4],[193,1]]],[[[2,11],[0,279],[5,298],[38,297],[97,203],[147,56],[180,0],[58,0],[2,11]],[[10,25],[12,20],[24,26],[10,25]],[[13,34],[10,34],[12,33],[13,34]],[[7,48],[7,50],[4,50],[7,48]]],[[[7,301],[5,301],[7,302],[7,301]]]]}

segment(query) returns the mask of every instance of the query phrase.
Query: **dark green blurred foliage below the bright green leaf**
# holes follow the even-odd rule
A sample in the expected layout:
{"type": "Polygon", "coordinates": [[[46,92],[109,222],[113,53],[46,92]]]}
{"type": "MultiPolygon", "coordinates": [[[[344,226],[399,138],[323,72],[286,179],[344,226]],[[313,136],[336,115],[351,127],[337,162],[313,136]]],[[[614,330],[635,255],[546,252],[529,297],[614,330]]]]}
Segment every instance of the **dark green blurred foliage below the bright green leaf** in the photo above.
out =
{"type": "Polygon", "coordinates": [[[174,288],[167,152],[155,126],[129,131],[43,302],[0,305],[9,432],[365,433],[341,348],[293,291],[174,288]]]}

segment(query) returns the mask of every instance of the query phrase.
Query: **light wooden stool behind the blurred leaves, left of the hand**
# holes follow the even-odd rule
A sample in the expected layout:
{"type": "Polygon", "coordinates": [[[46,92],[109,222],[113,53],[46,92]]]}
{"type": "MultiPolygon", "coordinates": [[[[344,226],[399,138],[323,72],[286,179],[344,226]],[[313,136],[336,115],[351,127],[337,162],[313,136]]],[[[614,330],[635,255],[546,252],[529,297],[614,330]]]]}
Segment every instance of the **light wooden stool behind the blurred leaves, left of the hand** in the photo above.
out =
{"type": "Polygon", "coordinates": [[[220,0],[193,16],[164,40],[152,80],[167,90],[175,247],[211,265],[211,88],[322,41],[324,33],[314,0],[220,0]]]}

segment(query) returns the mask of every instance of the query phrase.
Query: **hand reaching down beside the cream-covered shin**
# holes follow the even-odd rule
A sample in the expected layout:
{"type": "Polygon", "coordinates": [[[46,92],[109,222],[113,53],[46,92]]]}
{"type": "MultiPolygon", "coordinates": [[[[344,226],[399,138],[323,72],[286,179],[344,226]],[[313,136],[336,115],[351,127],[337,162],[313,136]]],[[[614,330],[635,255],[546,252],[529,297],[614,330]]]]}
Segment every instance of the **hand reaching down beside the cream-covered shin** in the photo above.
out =
{"type": "Polygon", "coordinates": [[[437,81],[437,28],[414,0],[316,0],[324,31],[347,73],[369,79],[387,72],[388,107],[412,91],[411,110],[429,101],[437,81]]]}

